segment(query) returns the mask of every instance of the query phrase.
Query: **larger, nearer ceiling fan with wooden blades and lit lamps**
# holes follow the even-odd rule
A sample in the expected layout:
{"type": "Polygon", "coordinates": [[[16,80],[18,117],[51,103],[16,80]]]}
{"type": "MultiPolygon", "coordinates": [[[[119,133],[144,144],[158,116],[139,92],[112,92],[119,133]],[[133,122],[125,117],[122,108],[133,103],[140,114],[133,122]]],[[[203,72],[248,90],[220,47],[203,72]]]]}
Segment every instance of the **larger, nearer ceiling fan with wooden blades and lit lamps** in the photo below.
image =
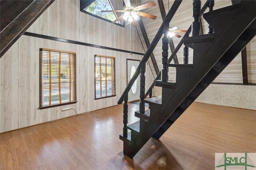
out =
{"type": "Polygon", "coordinates": [[[156,19],[156,16],[154,15],[147,14],[144,12],[139,12],[140,10],[144,10],[144,9],[156,6],[156,3],[154,1],[148,2],[140,6],[135,6],[134,4],[131,4],[130,0],[124,0],[124,3],[125,3],[124,10],[106,10],[101,12],[124,12],[124,14],[116,18],[116,20],[112,21],[111,23],[116,23],[118,20],[121,20],[122,18],[124,18],[125,20],[132,22],[134,26],[136,25],[136,19],[138,18],[138,16],[143,16],[146,18],[150,18],[152,20],[156,19]]]}

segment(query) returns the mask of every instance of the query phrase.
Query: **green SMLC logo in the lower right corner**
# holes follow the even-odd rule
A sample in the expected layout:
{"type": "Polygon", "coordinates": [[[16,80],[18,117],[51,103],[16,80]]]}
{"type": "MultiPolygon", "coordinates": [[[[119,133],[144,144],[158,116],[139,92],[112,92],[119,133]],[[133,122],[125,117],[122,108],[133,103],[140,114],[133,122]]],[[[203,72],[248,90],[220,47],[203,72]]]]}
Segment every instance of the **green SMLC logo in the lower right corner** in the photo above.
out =
{"type": "Polygon", "coordinates": [[[227,153],[224,153],[224,155],[218,162],[216,168],[222,166],[224,166],[225,170],[227,166],[232,166],[229,167],[232,169],[237,169],[237,166],[244,166],[243,168],[245,168],[245,170],[247,170],[247,167],[255,168],[255,165],[253,164],[252,160],[250,159],[247,153],[244,153],[244,156],[227,156],[227,153]]]}

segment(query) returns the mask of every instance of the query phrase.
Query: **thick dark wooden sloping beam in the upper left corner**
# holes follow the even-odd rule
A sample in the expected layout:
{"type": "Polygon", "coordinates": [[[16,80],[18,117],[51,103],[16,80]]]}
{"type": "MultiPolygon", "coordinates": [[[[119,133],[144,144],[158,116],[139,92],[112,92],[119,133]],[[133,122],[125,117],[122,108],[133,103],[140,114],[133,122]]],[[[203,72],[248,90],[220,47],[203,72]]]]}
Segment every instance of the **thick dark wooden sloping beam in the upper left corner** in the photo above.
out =
{"type": "Polygon", "coordinates": [[[0,58],[52,4],[52,2],[54,2],[54,0],[2,0],[0,2],[0,58]],[[2,24],[4,26],[2,26],[2,24]]]}

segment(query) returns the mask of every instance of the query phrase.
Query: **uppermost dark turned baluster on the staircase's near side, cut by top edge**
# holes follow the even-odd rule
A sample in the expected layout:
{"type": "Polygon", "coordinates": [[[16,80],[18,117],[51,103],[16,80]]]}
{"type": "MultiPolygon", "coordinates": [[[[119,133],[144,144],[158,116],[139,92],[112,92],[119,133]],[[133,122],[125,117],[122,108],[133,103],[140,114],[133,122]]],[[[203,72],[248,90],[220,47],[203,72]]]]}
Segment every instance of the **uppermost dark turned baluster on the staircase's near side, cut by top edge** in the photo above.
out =
{"type": "Polygon", "coordinates": [[[193,18],[194,21],[192,22],[192,36],[199,35],[200,31],[200,22],[199,22],[199,17],[200,17],[200,12],[201,10],[201,0],[193,0],[193,18]]]}

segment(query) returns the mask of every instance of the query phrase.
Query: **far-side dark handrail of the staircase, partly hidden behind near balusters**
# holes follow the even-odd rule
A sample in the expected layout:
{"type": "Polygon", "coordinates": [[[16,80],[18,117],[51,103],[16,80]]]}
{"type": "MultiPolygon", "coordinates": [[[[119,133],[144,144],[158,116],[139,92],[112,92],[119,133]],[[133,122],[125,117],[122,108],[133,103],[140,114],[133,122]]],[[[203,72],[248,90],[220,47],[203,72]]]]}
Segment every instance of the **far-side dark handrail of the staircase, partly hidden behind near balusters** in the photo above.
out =
{"type": "MultiPolygon", "coordinates": [[[[204,4],[204,6],[201,9],[201,14],[200,17],[202,17],[202,15],[204,14],[204,12],[206,11],[206,9],[208,8],[208,3],[211,0],[207,0],[204,4]]],[[[174,49],[174,51],[172,52],[171,56],[168,59],[168,63],[171,63],[172,59],[174,58],[174,56],[176,55],[176,53],[180,50],[180,47],[183,45],[183,41],[184,41],[184,37],[188,36],[191,32],[191,27],[192,25],[190,25],[190,27],[188,28],[188,31],[184,34],[184,36],[182,37],[182,39],[180,40],[179,44],[177,45],[177,47],[174,49]]],[[[151,84],[150,88],[148,88],[148,91],[145,93],[145,98],[148,97],[149,91],[151,88],[154,88],[156,80],[158,80],[161,76],[161,71],[157,74],[156,79],[154,80],[154,82],[151,84]]]]}

